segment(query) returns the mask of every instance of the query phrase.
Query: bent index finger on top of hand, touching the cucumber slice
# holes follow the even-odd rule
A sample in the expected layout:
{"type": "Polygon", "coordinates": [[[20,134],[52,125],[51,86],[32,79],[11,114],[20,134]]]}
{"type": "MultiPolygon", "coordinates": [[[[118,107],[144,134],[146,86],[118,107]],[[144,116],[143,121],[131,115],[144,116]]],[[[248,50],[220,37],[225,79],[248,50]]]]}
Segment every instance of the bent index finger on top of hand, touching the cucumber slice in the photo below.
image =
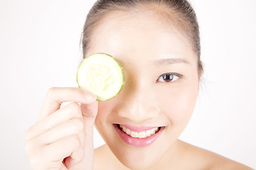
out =
{"type": "Polygon", "coordinates": [[[38,122],[60,108],[61,103],[75,101],[78,103],[92,103],[97,96],[76,87],[52,87],[48,90],[43,102],[38,122]]]}

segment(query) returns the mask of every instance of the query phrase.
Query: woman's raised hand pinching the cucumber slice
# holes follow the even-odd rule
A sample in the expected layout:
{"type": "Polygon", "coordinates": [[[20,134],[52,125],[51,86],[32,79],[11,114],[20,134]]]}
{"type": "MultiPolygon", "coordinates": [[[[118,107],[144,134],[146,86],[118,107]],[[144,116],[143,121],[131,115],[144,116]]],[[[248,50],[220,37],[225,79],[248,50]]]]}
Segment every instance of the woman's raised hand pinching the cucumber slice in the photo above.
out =
{"type": "Polygon", "coordinates": [[[95,100],[78,88],[49,89],[36,125],[25,135],[33,170],[93,169],[95,100]],[[74,102],[60,108],[65,101],[74,102]]]}

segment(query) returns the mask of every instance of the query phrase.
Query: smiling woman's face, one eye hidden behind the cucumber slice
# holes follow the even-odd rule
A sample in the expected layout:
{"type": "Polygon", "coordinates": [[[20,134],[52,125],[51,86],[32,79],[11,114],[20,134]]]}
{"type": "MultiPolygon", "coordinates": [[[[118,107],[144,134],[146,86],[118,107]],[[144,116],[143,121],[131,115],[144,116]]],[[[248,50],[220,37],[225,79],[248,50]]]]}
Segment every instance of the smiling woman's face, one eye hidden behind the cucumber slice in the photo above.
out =
{"type": "Polygon", "coordinates": [[[193,113],[198,95],[195,53],[179,31],[150,11],[110,13],[92,33],[87,55],[96,52],[116,58],[125,74],[122,91],[99,102],[97,130],[125,166],[156,164],[193,113]],[[133,137],[119,125],[132,130],[133,137]],[[161,129],[152,135],[155,127],[161,129]]]}

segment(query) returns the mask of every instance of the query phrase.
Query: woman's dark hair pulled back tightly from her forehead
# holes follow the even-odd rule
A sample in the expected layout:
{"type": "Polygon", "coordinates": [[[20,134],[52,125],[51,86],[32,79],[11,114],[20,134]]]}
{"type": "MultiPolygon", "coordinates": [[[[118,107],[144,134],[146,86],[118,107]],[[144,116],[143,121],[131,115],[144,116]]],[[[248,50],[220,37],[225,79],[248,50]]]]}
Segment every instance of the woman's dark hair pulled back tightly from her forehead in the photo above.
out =
{"type": "Polygon", "coordinates": [[[198,72],[203,71],[201,64],[201,45],[199,26],[196,13],[186,0],[97,0],[87,14],[82,32],[82,53],[86,55],[90,46],[92,31],[102,19],[112,11],[132,11],[134,8],[144,8],[158,12],[171,25],[185,33],[191,42],[193,51],[198,56],[198,72]]]}

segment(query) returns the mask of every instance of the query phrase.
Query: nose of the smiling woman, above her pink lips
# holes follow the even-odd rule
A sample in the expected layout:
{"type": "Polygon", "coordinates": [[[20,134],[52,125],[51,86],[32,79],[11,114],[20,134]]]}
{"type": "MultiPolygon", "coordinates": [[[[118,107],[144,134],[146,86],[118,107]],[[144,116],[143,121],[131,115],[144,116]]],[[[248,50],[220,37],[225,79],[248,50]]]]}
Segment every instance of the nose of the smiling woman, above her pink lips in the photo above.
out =
{"type": "MultiPolygon", "coordinates": [[[[154,95],[154,88],[151,88],[146,79],[132,79],[126,81],[117,106],[117,114],[120,118],[132,123],[143,124],[156,118],[160,109],[154,95]]],[[[154,86],[154,85],[153,85],[154,86]]]]}

